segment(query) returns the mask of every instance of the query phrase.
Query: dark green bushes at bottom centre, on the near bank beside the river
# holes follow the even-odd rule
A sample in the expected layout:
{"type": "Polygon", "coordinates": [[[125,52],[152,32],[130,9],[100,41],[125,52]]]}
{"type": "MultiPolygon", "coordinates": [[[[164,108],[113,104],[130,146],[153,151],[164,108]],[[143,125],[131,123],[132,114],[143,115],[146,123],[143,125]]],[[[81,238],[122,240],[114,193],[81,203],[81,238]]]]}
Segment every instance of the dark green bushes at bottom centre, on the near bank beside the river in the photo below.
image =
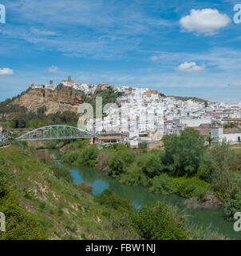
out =
{"type": "MultiPolygon", "coordinates": [[[[113,194],[111,190],[104,190],[95,197],[95,201],[105,206],[109,216],[113,216],[113,210],[124,214],[121,223],[114,220],[115,225],[129,226],[139,234],[140,239],[148,240],[185,240],[188,234],[184,230],[185,218],[176,218],[168,206],[160,202],[147,204],[135,210],[127,199],[113,194]]],[[[123,216],[122,216],[123,217],[123,216]]]]}

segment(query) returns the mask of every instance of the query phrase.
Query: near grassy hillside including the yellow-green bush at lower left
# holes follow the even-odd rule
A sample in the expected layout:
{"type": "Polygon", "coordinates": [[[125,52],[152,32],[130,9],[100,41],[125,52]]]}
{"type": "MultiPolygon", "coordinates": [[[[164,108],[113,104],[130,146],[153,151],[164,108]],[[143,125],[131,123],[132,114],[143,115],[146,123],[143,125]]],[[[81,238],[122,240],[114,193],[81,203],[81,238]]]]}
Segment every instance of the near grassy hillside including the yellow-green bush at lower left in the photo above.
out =
{"type": "Polygon", "coordinates": [[[0,150],[0,211],[11,227],[0,240],[138,238],[128,221],[117,225],[116,210],[106,217],[105,206],[74,185],[69,173],[38,161],[21,145],[0,150]]]}

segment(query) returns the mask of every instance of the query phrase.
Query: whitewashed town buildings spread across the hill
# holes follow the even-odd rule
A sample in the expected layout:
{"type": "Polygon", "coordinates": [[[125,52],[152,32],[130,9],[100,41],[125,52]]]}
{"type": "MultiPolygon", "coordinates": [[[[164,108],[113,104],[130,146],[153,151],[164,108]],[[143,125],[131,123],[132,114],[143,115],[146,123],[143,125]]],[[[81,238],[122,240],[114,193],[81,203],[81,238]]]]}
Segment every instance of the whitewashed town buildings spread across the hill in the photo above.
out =
{"type": "MultiPolygon", "coordinates": [[[[86,95],[109,87],[121,93],[117,98],[121,108],[117,110],[110,106],[103,122],[101,118],[95,118],[90,120],[88,128],[96,133],[128,131],[132,145],[138,145],[145,139],[157,141],[164,135],[180,134],[185,127],[193,127],[211,140],[240,142],[241,102],[216,103],[199,98],[165,96],[149,88],[110,86],[108,83],[95,86],[74,82],[70,76],[67,80],[61,80],[61,85],[86,95]],[[144,134],[148,134],[147,138],[144,138],[144,134]]],[[[32,84],[30,88],[54,91],[57,85],[50,81],[49,85],[32,84]]]]}

